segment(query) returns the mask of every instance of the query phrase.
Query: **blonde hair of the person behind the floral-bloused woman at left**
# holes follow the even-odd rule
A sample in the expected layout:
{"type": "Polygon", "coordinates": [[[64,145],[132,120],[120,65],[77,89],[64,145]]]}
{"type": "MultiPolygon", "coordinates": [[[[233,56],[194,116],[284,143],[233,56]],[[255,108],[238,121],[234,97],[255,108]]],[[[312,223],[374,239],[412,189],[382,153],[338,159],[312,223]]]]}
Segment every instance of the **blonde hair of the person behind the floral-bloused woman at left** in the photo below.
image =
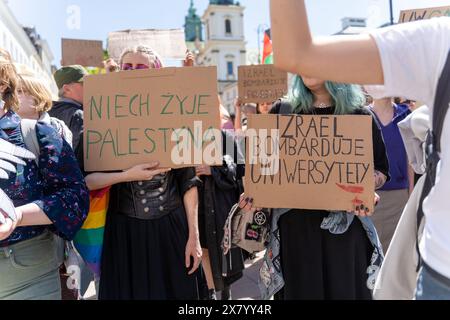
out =
{"type": "Polygon", "coordinates": [[[19,91],[33,98],[37,112],[47,112],[52,108],[52,93],[47,83],[37,77],[27,66],[19,65],[19,91]]]}

